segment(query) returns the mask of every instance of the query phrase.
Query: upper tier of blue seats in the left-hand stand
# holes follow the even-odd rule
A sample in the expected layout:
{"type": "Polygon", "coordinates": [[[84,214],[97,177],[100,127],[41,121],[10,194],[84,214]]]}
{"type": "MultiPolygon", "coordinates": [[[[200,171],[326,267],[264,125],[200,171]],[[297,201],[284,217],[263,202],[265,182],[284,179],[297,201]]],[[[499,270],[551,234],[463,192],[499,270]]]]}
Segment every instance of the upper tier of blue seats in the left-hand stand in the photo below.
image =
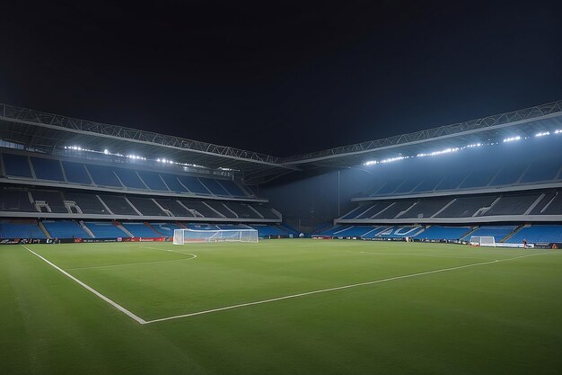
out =
{"type": "Polygon", "coordinates": [[[59,161],[40,155],[23,156],[7,152],[1,156],[4,162],[3,174],[10,178],[97,185],[127,191],[177,192],[243,198],[249,196],[237,183],[223,178],[145,171],[134,165],[114,166],[59,161]]]}

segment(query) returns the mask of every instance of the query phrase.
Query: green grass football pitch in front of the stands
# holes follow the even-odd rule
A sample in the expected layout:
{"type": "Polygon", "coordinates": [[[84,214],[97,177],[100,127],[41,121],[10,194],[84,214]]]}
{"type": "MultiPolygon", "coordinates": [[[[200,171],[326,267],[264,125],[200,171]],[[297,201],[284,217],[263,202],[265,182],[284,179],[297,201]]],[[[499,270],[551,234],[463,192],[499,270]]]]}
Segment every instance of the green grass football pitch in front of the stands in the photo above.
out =
{"type": "Polygon", "coordinates": [[[558,250],[300,239],[28,248],[147,323],[23,246],[1,246],[2,374],[562,373],[558,250]]]}

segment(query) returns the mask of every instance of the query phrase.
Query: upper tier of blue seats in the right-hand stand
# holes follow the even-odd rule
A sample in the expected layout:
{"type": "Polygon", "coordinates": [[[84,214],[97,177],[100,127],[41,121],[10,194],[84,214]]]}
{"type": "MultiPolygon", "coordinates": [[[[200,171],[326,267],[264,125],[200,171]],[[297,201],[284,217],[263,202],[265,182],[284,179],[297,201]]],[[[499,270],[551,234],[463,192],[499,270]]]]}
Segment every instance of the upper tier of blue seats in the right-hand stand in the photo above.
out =
{"type": "Polygon", "coordinates": [[[463,149],[443,157],[413,157],[368,166],[373,179],[361,196],[397,196],[458,190],[509,188],[514,185],[559,183],[562,149],[559,139],[529,139],[525,145],[463,149]],[[540,157],[540,159],[538,159],[540,157]]]}

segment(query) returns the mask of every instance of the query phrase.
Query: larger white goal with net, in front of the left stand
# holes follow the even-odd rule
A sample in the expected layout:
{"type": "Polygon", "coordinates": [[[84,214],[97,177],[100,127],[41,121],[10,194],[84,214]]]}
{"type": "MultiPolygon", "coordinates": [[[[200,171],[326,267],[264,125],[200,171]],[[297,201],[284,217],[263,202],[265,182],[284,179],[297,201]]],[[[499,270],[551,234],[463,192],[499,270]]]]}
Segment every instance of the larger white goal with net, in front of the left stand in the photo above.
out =
{"type": "Polygon", "coordinates": [[[173,231],[173,244],[184,245],[189,243],[211,242],[258,242],[256,229],[175,229],[173,231]]]}

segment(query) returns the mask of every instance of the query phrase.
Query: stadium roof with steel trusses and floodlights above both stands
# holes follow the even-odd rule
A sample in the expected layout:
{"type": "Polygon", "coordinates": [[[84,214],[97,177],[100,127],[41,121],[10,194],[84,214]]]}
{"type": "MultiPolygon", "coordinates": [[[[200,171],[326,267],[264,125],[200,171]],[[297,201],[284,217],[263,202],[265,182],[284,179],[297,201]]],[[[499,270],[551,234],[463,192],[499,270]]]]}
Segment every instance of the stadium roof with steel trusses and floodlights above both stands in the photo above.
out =
{"type": "Polygon", "coordinates": [[[420,130],[355,145],[334,147],[309,154],[277,157],[219,146],[152,131],[84,121],[0,104],[0,138],[28,148],[52,150],[69,145],[110,149],[166,157],[208,168],[231,168],[244,174],[247,183],[263,183],[279,175],[314,166],[349,167],[369,160],[415,156],[450,147],[463,147],[505,138],[531,137],[538,132],[562,129],[562,101],[524,110],[488,116],[434,129],[420,130]]]}

